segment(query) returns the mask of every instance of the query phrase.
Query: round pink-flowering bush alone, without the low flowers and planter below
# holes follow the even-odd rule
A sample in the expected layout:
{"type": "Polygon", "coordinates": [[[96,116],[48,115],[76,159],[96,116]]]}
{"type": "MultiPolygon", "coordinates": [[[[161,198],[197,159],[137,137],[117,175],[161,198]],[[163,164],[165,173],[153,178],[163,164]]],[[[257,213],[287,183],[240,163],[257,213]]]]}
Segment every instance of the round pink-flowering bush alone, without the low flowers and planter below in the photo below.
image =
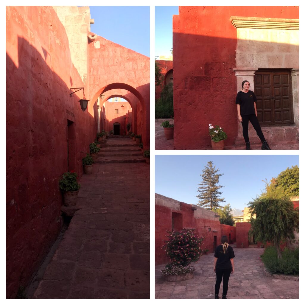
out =
{"type": "Polygon", "coordinates": [[[191,262],[197,262],[203,254],[203,238],[199,238],[191,230],[173,230],[166,237],[168,240],[164,240],[162,248],[174,265],[187,266],[191,262]]]}

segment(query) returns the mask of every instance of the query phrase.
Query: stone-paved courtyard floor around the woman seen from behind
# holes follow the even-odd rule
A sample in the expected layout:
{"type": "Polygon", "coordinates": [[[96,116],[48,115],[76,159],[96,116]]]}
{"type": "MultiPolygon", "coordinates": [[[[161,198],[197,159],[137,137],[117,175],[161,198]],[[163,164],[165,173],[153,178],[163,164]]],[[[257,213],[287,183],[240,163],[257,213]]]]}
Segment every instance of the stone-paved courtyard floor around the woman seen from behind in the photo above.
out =
{"type": "MultiPolygon", "coordinates": [[[[229,280],[228,299],[298,299],[299,282],[263,275],[260,255],[264,249],[234,248],[234,270],[229,280]]],[[[156,299],[213,299],[216,275],[214,254],[203,255],[194,264],[194,278],[183,282],[166,282],[156,266],[156,299]]],[[[219,294],[222,293],[222,283],[219,294]]]]}

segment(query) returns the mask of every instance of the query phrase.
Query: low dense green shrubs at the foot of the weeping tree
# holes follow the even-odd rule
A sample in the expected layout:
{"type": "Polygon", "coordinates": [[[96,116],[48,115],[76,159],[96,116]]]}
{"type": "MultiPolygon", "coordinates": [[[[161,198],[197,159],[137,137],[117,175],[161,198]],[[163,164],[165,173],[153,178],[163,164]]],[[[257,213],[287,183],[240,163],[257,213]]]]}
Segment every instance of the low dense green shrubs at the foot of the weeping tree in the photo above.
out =
{"type": "Polygon", "coordinates": [[[267,247],[261,256],[266,269],[271,273],[299,274],[299,248],[285,248],[282,258],[274,246],[267,247]]]}

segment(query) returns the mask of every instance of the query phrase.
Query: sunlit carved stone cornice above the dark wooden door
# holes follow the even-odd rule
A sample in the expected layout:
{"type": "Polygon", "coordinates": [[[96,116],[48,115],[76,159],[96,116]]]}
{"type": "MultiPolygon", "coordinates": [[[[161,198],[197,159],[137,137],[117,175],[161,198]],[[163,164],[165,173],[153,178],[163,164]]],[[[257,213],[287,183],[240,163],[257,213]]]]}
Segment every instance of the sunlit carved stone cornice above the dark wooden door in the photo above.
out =
{"type": "Polygon", "coordinates": [[[299,30],[299,19],[231,16],[235,28],[299,30]]]}

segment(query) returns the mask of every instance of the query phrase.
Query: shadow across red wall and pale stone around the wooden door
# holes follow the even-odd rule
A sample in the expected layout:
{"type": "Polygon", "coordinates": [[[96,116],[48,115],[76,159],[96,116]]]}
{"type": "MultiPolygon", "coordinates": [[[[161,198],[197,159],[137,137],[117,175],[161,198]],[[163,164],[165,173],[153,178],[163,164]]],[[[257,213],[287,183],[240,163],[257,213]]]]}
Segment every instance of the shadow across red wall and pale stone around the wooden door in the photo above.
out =
{"type": "MultiPolygon", "coordinates": [[[[236,38],[173,33],[175,149],[211,149],[210,123],[220,125],[227,133],[226,145],[234,144],[238,120],[233,68],[237,59],[244,59],[243,67],[249,70],[298,67],[298,45],[251,42],[243,43],[237,54],[236,38]]],[[[292,106],[291,111],[293,117],[292,106]]]]}

